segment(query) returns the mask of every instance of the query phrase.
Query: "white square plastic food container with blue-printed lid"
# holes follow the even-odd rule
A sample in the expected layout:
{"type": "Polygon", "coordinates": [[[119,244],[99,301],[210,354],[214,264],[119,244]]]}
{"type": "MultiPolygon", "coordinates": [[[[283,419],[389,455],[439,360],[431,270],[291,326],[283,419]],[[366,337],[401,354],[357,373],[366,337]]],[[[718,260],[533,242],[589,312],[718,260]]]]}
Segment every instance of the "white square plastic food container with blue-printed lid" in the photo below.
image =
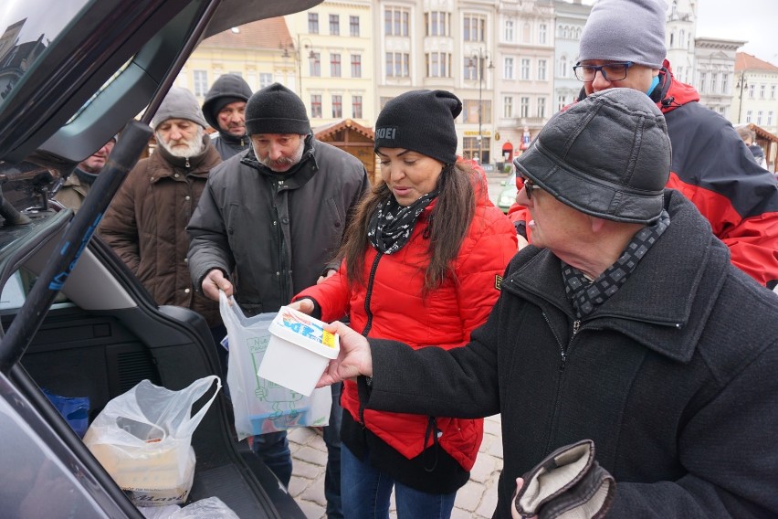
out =
{"type": "Polygon", "coordinates": [[[323,322],[282,306],[270,323],[268,351],[258,376],[307,396],[341,349],[338,334],[324,330],[323,322]]]}

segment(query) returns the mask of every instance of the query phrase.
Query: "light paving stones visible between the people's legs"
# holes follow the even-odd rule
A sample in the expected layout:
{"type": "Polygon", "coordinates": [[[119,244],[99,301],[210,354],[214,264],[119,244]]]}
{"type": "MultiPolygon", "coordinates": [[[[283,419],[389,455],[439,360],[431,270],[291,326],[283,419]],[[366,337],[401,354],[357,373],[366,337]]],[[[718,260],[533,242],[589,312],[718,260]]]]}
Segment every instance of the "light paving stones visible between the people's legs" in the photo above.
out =
{"type": "MultiPolygon", "coordinates": [[[[327,448],[314,429],[289,431],[293,471],[289,493],[295,498],[308,519],[326,519],[324,499],[324,466],[327,448]]],[[[499,415],[484,420],[484,440],[478,452],[470,481],[459,489],[454,502],[453,519],[491,517],[497,506],[497,481],[502,471],[502,437],[499,415]]],[[[390,512],[394,514],[394,503],[390,512]]]]}

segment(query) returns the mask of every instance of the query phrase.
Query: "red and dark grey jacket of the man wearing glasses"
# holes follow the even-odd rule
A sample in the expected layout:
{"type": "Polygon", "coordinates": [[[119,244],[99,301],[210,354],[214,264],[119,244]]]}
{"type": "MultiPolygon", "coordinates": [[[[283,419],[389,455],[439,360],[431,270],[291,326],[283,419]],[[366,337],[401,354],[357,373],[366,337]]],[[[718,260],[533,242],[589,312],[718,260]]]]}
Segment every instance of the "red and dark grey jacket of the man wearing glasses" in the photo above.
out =
{"type": "MultiPolygon", "coordinates": [[[[697,206],[713,234],[730,248],[736,267],[773,289],[778,283],[775,178],[754,164],[730,122],[700,105],[697,90],[673,77],[668,60],[660,76],[658,96],[652,99],[658,98],[673,147],[668,187],[697,206]]],[[[607,147],[607,136],[603,146],[607,147]]],[[[522,187],[518,176],[517,186],[522,187]]],[[[528,214],[514,204],[509,217],[521,225],[528,214]]]]}

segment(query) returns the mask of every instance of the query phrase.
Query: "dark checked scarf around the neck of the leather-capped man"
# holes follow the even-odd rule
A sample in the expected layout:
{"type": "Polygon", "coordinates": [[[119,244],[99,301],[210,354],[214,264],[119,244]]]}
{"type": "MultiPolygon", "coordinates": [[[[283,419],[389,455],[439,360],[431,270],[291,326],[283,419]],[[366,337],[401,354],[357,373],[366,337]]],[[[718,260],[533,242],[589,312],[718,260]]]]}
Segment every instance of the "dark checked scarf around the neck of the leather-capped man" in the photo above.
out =
{"type": "Polygon", "coordinates": [[[573,302],[578,319],[591,315],[598,306],[615,294],[629,274],[635,270],[637,262],[646,255],[652,245],[657,243],[657,239],[669,225],[670,215],[663,209],[657,223],[637,231],[619,259],[594,281],[584,276],[581,270],[562,261],[564,291],[573,302]]]}

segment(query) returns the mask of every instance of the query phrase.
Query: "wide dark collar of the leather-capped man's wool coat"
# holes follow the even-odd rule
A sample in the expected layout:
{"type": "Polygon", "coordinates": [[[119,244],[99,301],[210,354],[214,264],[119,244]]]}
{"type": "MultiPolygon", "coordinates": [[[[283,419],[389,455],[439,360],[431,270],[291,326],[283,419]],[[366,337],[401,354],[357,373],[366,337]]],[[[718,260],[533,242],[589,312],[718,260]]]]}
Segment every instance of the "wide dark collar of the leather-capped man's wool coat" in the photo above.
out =
{"type": "MultiPolygon", "coordinates": [[[[613,329],[657,353],[687,362],[730,268],[730,254],[680,193],[666,190],[665,208],[671,218],[668,229],[626,283],[582,321],[581,332],[587,327],[613,329]]],[[[574,317],[560,260],[547,249],[530,250],[525,257],[503,285],[509,291],[518,289],[521,297],[544,309],[552,305],[562,310],[567,320],[560,316],[555,324],[566,329],[574,317]]]]}

